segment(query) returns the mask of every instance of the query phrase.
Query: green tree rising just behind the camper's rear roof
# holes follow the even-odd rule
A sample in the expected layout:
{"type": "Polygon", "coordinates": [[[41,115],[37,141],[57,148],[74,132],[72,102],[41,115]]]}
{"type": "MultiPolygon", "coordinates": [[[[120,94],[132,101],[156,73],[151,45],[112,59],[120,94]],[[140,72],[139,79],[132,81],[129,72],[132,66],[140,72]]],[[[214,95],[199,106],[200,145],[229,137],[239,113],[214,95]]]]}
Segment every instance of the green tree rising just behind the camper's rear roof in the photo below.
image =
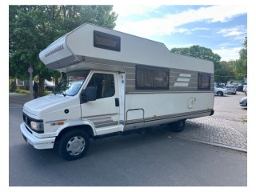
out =
{"type": "Polygon", "coordinates": [[[221,56],[203,46],[190,46],[189,48],[173,48],[170,52],[183,54],[195,58],[202,58],[214,62],[214,81],[222,82],[221,56]]]}

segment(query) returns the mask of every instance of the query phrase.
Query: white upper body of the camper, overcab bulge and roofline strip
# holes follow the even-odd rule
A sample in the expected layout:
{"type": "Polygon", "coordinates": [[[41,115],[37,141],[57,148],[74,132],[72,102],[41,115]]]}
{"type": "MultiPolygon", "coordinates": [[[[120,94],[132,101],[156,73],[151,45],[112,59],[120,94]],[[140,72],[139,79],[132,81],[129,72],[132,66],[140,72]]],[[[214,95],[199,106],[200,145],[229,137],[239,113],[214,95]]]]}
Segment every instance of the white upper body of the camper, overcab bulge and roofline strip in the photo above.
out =
{"type": "MultiPolygon", "coordinates": [[[[78,60],[70,62],[70,53],[79,60],[79,62],[94,63],[98,61],[115,61],[147,66],[172,67],[183,70],[198,70],[202,72],[214,71],[212,62],[203,59],[187,57],[179,54],[172,54],[161,42],[154,42],[146,38],[139,38],[131,34],[125,34],[115,30],[109,30],[104,27],[84,24],[77,29],[59,38],[53,42],[46,50],[42,50],[39,57],[51,69],[66,70],[66,66],[72,66],[78,63],[78,60]],[[100,49],[94,46],[94,31],[112,34],[121,38],[121,50],[113,51],[100,49]],[[63,46],[62,46],[63,45],[63,46]],[[63,48],[59,48],[62,46],[63,48]],[[62,55],[54,58],[55,54],[62,55]],[[67,60],[65,60],[65,58],[67,60]],[[194,63],[198,65],[194,66],[194,63]]],[[[104,62],[99,62],[104,63],[104,62]]],[[[110,64],[107,63],[106,64],[110,64]]]]}

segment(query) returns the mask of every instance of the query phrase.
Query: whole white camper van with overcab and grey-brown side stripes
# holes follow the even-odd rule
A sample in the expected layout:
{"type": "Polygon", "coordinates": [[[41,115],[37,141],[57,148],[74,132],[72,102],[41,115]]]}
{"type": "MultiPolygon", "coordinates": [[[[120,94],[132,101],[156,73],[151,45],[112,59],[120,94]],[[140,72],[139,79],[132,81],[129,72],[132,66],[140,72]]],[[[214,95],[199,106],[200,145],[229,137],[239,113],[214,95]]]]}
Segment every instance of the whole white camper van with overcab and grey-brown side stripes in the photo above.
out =
{"type": "Polygon", "coordinates": [[[84,24],[39,55],[64,72],[55,93],[26,102],[20,128],[36,149],[66,160],[86,154],[90,138],[214,113],[214,63],[172,54],[160,42],[84,24]]]}

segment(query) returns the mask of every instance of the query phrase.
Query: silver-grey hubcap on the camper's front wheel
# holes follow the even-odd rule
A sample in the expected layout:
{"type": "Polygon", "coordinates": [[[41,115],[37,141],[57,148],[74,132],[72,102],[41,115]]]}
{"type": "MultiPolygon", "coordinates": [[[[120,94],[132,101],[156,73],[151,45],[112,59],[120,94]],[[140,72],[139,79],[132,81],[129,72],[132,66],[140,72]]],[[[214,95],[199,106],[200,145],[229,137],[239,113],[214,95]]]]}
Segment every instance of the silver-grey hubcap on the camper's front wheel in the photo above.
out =
{"type": "Polygon", "coordinates": [[[70,141],[66,145],[66,151],[68,151],[71,155],[81,154],[85,149],[86,140],[82,137],[75,136],[71,138],[70,141]]]}

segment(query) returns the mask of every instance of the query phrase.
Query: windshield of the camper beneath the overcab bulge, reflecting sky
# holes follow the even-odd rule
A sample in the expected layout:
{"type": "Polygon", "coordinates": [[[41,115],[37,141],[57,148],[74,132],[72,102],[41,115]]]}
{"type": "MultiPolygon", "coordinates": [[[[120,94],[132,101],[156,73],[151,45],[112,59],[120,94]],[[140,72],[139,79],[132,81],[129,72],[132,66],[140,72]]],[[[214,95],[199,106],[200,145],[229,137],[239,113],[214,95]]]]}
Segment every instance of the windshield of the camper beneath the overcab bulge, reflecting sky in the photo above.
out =
{"type": "Polygon", "coordinates": [[[62,80],[58,83],[54,94],[63,94],[64,96],[78,94],[78,90],[80,90],[89,72],[90,70],[79,70],[62,74],[62,80]]]}

